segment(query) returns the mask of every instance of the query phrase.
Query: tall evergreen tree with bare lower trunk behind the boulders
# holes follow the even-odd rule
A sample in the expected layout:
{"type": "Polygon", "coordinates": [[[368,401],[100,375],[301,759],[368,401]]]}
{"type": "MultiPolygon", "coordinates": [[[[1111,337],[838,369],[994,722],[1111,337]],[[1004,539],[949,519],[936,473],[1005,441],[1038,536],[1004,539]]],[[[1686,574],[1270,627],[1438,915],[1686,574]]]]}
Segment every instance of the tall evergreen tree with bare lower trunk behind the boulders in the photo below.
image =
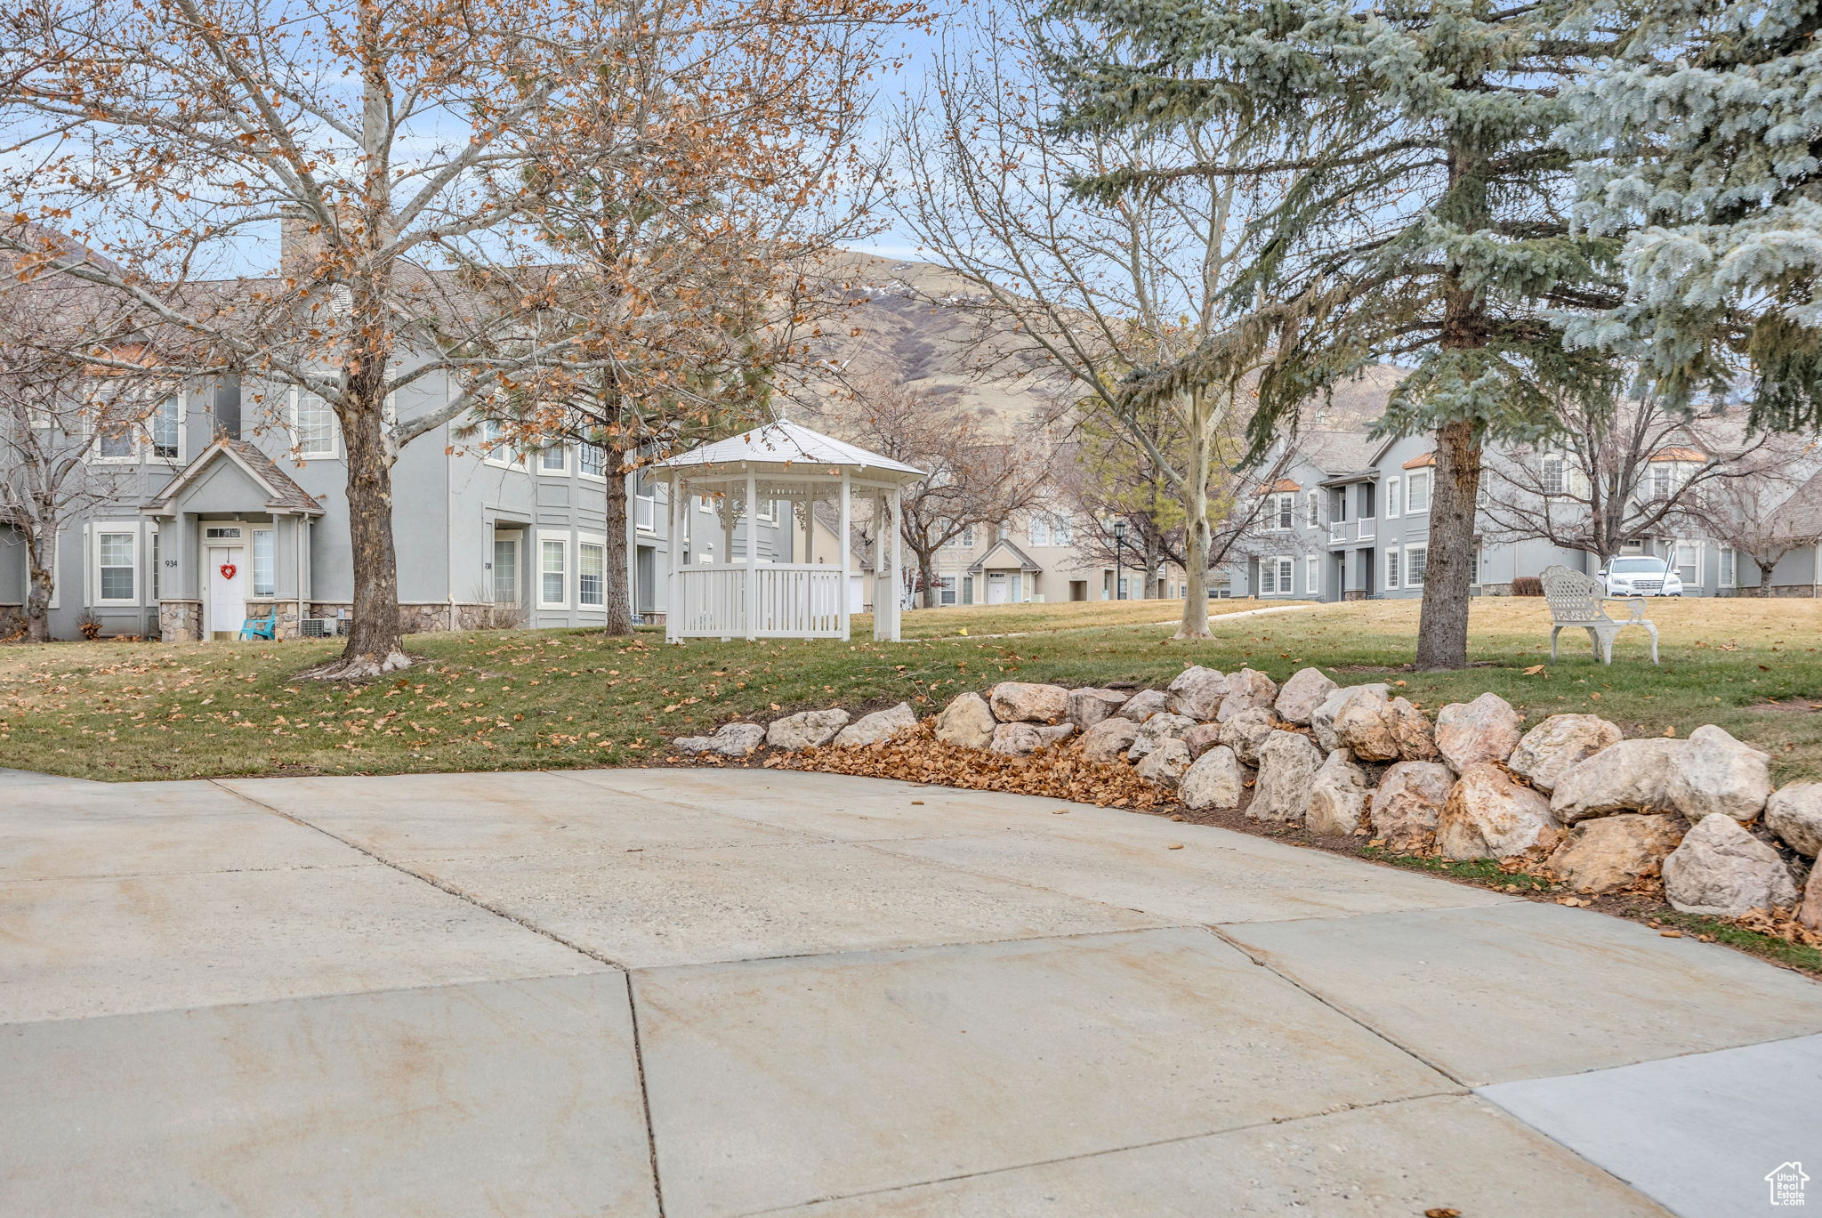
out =
{"type": "MultiPolygon", "coordinates": [[[[1618,304],[1612,243],[1569,230],[1561,86],[1605,35],[1569,36],[1578,0],[1051,0],[1071,128],[1239,124],[1241,155],[1170,175],[1290,179],[1274,257],[1239,284],[1277,332],[1254,441],[1370,361],[1410,361],[1383,421],[1436,432],[1419,667],[1467,664],[1481,447],[1549,425],[1561,394],[1611,399],[1616,376],[1565,350],[1556,310],[1618,304]]],[[[1170,175],[1159,175],[1161,179],[1170,175]]],[[[1130,190],[1082,182],[1088,191],[1130,190]]],[[[1195,357],[1131,392],[1173,392],[1195,357]]]]}

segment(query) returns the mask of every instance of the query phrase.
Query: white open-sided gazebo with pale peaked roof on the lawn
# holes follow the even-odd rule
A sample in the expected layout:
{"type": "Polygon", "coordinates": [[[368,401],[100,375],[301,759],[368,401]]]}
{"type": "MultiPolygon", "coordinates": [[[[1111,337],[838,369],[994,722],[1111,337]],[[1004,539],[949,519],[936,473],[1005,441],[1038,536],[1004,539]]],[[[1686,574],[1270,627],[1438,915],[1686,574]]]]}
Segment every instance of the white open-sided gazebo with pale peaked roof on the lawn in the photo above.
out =
{"type": "Polygon", "coordinates": [[[669,642],[847,638],[856,494],[873,498],[873,636],[898,638],[900,490],[924,470],[798,423],[765,423],[652,469],[670,487],[669,642]],[[816,505],[831,501],[838,560],[818,562],[816,505]]]}

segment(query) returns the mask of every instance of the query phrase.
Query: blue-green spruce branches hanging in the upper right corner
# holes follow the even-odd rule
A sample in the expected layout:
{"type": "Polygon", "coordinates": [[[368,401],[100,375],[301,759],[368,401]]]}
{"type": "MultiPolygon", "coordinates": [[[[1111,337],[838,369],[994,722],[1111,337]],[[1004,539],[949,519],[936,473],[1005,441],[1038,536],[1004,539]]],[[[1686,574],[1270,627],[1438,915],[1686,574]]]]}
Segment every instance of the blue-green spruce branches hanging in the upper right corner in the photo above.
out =
{"type": "Polygon", "coordinates": [[[1623,233],[1629,303],[1571,341],[1649,359],[1673,399],[1751,370],[1753,421],[1822,427],[1822,4],[1622,2],[1614,66],[1569,91],[1576,221],[1623,233]]]}

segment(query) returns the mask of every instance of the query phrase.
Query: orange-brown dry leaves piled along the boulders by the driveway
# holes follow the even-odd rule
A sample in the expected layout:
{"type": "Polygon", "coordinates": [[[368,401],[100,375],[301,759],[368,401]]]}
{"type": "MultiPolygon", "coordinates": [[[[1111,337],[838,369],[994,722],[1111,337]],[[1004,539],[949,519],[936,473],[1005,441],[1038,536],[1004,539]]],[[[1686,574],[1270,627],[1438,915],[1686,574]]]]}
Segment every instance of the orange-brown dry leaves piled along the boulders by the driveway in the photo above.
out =
{"type": "Polygon", "coordinates": [[[1006,757],[944,744],[937,740],[927,720],[882,744],[774,753],[762,764],[769,769],[818,769],[864,779],[933,782],[971,791],[1046,795],[1139,811],[1172,808],[1177,802],[1175,795],[1146,782],[1131,766],[1086,760],[1075,744],[1039,749],[1029,757],[1006,757]]]}

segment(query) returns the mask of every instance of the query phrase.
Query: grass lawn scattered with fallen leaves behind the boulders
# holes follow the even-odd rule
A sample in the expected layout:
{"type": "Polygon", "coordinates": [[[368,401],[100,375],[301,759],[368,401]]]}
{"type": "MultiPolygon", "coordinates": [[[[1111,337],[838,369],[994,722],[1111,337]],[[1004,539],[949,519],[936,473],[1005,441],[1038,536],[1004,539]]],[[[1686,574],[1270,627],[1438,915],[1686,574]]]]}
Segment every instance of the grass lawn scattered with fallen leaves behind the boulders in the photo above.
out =
{"type": "MultiPolygon", "coordinates": [[[[1217,611],[1257,604],[1217,602],[1217,611]]],[[[1343,684],[1403,682],[1434,709],[1492,689],[1536,720],[1592,711],[1627,735],[1715,722],[1775,757],[1780,780],[1822,777],[1822,653],[1815,600],[1665,600],[1653,669],[1629,633],[1612,667],[1563,636],[1549,666],[1541,600],[1474,604],[1474,667],[1407,673],[1418,604],[1356,602],[1215,622],[1172,644],[1173,602],[1088,602],[907,613],[902,644],[692,642],[660,633],[417,635],[395,680],[295,680],[333,644],[49,644],[0,647],[0,766],[87,779],[399,773],[627,766],[669,737],[813,706],[920,711],[997,680],[1164,684],[1184,664],[1252,664],[1283,680],[1317,666],[1343,684]],[[966,629],[964,636],[960,631],[966,629]],[[993,635],[1002,635],[995,638],[993,635]],[[1541,667],[1540,667],[1541,666],[1541,667]]]]}

